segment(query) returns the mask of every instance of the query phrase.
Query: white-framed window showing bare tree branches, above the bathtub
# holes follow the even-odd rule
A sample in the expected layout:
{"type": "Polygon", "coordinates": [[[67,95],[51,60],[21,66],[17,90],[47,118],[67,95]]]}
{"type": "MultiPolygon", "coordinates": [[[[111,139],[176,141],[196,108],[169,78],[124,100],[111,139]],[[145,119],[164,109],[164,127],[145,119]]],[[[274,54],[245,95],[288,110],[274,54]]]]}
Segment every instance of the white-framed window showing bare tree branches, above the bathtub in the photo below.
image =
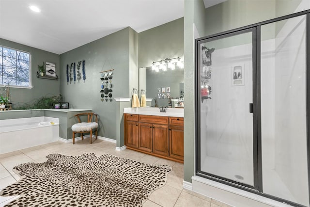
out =
{"type": "Polygon", "coordinates": [[[0,85],[30,87],[30,61],[29,52],[0,46],[0,85]]]}

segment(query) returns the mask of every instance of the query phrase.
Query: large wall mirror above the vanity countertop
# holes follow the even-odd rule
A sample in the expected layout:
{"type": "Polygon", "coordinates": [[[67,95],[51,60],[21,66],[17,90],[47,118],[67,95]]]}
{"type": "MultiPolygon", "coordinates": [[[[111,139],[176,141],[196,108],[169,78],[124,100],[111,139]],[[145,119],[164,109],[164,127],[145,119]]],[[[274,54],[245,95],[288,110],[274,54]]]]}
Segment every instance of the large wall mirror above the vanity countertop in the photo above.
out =
{"type": "Polygon", "coordinates": [[[146,98],[153,98],[147,106],[155,107],[156,98],[156,107],[184,107],[184,69],[176,67],[156,72],[151,67],[140,68],[140,93],[141,89],[146,91],[146,98]]]}

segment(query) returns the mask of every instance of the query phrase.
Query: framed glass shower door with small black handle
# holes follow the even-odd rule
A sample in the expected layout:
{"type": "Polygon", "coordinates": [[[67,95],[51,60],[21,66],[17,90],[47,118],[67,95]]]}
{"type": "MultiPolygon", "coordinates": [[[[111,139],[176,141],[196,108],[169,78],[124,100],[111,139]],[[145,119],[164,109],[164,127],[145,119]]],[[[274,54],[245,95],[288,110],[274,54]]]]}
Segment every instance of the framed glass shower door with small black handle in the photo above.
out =
{"type": "Polygon", "coordinates": [[[198,45],[201,172],[251,188],[253,35],[250,29],[198,45]]]}

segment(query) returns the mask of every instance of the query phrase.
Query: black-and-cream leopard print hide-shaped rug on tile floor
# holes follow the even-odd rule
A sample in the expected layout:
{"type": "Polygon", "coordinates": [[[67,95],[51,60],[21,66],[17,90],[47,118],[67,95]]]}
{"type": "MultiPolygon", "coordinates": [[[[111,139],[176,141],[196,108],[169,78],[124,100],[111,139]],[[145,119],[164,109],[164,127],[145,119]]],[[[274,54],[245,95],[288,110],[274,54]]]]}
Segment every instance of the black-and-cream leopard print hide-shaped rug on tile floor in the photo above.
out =
{"type": "Polygon", "coordinates": [[[51,154],[43,163],[13,168],[20,180],[0,191],[20,195],[7,207],[140,207],[163,185],[168,165],[93,153],[80,156],[51,154]]]}

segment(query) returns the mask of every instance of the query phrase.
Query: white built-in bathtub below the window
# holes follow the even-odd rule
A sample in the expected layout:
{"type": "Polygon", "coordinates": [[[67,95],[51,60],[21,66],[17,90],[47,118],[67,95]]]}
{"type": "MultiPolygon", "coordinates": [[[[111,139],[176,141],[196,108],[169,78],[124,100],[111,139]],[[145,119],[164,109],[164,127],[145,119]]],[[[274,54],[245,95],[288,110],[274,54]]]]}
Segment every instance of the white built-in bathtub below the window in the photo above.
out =
{"type": "Polygon", "coordinates": [[[58,118],[40,116],[0,120],[0,154],[58,140],[58,118]]]}

